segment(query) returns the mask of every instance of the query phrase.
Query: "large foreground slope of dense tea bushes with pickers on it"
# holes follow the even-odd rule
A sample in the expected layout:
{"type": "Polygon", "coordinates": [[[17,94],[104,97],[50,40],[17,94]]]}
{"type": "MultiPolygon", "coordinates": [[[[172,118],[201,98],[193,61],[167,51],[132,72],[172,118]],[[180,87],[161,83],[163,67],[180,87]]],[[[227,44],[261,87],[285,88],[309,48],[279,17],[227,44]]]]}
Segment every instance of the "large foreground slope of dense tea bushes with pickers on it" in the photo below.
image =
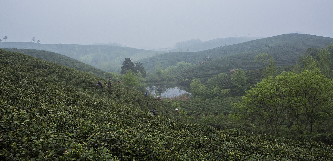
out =
{"type": "Polygon", "coordinates": [[[0,160],[333,160],[333,146],[185,122],[166,101],[98,80],[0,49],[0,160]]]}

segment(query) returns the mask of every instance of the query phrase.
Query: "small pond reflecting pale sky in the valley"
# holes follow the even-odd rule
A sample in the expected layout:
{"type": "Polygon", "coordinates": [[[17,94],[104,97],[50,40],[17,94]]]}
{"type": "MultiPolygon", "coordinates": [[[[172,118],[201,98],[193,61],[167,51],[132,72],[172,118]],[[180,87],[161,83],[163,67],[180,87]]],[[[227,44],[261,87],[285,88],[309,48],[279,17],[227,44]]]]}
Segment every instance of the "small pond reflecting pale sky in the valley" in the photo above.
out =
{"type": "Polygon", "coordinates": [[[191,94],[186,91],[189,90],[189,87],[175,85],[149,85],[146,90],[148,95],[161,98],[172,98],[186,93],[191,94]]]}

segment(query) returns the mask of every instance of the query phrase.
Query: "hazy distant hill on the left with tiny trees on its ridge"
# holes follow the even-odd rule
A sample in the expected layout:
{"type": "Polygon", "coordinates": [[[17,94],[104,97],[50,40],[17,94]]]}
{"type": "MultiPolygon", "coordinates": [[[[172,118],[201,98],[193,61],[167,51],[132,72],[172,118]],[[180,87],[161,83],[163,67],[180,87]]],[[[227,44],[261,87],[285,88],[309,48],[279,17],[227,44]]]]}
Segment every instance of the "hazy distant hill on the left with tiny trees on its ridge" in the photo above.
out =
{"type": "Polygon", "coordinates": [[[83,63],[92,65],[107,72],[119,72],[124,58],[136,60],[161,54],[161,51],[135,49],[108,45],[75,45],[75,44],[39,44],[32,42],[1,42],[0,48],[46,50],[83,63]]]}

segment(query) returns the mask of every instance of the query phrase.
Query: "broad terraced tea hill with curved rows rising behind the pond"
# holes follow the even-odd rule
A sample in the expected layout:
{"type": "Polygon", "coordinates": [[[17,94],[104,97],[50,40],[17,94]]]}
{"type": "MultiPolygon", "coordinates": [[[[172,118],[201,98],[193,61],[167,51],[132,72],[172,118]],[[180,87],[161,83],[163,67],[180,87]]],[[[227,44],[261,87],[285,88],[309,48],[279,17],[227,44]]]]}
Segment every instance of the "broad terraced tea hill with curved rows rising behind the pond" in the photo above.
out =
{"type": "Polygon", "coordinates": [[[193,71],[184,73],[182,79],[209,78],[218,73],[228,73],[231,69],[260,69],[261,64],[254,62],[259,53],[267,53],[274,57],[277,66],[293,65],[298,54],[303,54],[309,47],[324,48],[333,38],[307,34],[284,34],[263,39],[247,41],[239,44],[222,46],[201,52],[165,53],[141,59],[145,70],[154,73],[156,62],[163,68],[176,65],[180,61],[201,64],[193,71]]]}

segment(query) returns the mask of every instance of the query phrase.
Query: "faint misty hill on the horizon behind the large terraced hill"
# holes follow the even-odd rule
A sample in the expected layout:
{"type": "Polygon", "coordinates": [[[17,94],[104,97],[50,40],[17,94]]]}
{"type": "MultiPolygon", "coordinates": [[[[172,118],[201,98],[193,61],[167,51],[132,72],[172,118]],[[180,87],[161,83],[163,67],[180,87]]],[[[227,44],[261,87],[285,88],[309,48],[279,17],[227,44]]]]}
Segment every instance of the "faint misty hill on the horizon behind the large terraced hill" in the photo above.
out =
{"type": "MultiPolygon", "coordinates": [[[[218,38],[209,41],[204,41],[202,43],[196,43],[190,46],[181,46],[181,49],[187,52],[196,52],[196,51],[203,51],[208,49],[213,49],[221,46],[233,45],[238,44],[246,41],[260,39],[261,37],[226,37],[226,38],[218,38]]],[[[159,49],[159,51],[167,51],[167,49],[159,49]]],[[[169,52],[179,52],[179,49],[172,49],[169,52]]],[[[168,51],[167,51],[168,52],[168,51]]]]}

